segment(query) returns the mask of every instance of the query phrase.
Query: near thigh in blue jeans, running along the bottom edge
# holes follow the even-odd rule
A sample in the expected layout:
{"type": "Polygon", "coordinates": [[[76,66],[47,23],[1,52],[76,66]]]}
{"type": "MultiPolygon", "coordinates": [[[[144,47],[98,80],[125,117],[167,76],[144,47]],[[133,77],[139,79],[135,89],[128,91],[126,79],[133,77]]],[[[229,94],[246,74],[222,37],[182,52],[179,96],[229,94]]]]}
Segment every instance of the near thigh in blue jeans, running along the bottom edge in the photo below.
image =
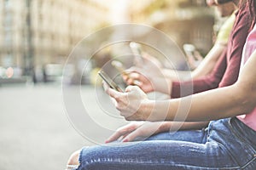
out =
{"type": "Polygon", "coordinates": [[[197,144],[174,140],[115,143],[85,147],[78,169],[169,170],[234,169],[233,161],[218,143],[197,144]]]}

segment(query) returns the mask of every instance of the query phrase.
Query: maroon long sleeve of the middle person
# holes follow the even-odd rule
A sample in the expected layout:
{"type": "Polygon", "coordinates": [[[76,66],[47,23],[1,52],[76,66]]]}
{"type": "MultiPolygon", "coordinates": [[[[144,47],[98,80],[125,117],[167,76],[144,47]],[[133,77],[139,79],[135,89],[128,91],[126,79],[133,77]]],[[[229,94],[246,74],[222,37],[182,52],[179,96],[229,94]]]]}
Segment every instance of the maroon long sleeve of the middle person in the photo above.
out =
{"type": "Polygon", "coordinates": [[[242,48],[253,22],[252,11],[249,8],[252,2],[253,0],[248,0],[246,6],[240,8],[236,14],[236,21],[227,48],[221,54],[211,74],[188,82],[172,82],[172,98],[230,86],[236,82],[241,64],[242,48]]]}

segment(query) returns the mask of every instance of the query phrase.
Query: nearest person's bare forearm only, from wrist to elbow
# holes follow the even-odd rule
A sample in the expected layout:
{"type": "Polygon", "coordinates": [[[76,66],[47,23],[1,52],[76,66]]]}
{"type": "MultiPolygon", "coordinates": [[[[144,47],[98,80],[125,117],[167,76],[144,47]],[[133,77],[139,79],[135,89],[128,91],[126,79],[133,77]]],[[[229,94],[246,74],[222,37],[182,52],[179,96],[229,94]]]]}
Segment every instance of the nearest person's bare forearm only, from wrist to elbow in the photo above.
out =
{"type": "MultiPolygon", "coordinates": [[[[252,105],[236,85],[182,99],[151,101],[148,121],[204,122],[244,114],[252,105]]],[[[147,115],[147,114],[145,114],[147,115]]],[[[145,117],[146,118],[146,117],[145,117]]]]}

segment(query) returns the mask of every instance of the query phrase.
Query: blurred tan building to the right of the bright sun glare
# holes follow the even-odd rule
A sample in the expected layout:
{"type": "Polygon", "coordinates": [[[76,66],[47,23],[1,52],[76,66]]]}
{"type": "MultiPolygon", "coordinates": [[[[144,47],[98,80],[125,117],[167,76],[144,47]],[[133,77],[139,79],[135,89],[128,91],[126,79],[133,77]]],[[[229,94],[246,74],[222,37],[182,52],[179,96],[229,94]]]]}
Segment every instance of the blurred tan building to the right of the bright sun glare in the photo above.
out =
{"type": "MultiPolygon", "coordinates": [[[[182,48],[192,43],[202,54],[212,48],[214,10],[205,0],[151,0],[147,5],[132,3],[131,20],[164,31],[182,48]]],[[[143,1],[141,2],[143,3],[143,1]]]]}

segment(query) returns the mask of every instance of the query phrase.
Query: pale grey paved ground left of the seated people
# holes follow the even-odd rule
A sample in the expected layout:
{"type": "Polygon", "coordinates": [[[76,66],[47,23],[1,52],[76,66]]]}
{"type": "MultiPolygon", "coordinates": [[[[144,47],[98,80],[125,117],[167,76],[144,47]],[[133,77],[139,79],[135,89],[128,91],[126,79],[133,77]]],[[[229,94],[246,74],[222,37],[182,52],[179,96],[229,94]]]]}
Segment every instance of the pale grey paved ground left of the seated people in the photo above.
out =
{"type": "MultiPolygon", "coordinates": [[[[75,89],[69,89],[73,94],[75,89]]],[[[65,95],[61,85],[2,86],[0,96],[1,170],[64,169],[73,150],[95,142],[103,143],[113,129],[125,124],[123,119],[115,115],[113,106],[108,104],[108,97],[101,94],[100,89],[81,89],[81,99],[93,120],[80,120],[84,129],[90,131],[84,135],[85,138],[80,135],[84,134],[83,129],[80,131],[78,128],[78,133],[74,128],[76,122],[73,121],[73,127],[67,118],[65,105],[76,105],[77,101],[63,103],[65,95]],[[96,94],[99,96],[97,99],[96,94]],[[98,105],[105,99],[107,102],[98,105]],[[110,110],[102,111],[102,107],[106,110],[105,106],[110,110]],[[114,115],[106,114],[112,111],[114,115]],[[102,128],[95,128],[96,125],[102,128]]]]}

